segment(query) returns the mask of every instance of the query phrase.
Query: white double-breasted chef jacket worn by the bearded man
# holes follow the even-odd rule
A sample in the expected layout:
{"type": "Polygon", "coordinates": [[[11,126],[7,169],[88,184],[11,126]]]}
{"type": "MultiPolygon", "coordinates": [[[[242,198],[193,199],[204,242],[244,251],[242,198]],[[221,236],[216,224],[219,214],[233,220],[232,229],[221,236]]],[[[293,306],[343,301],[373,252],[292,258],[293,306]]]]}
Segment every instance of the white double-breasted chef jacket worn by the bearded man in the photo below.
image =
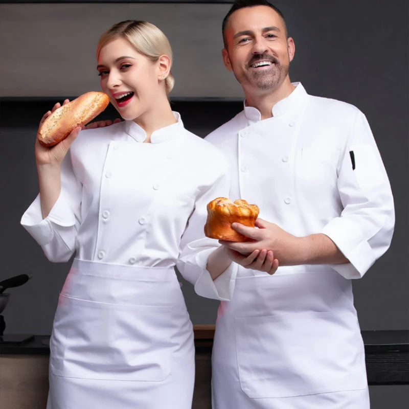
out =
{"type": "MultiPolygon", "coordinates": [[[[228,157],[232,199],[255,203],[261,218],[293,235],[327,235],[350,261],[331,267],[347,279],[360,278],[392,240],[395,214],[387,172],[359,109],[293,85],[272,107],[272,118],[261,121],[260,112],[244,104],[206,140],[228,157]]],[[[276,274],[307,268],[279,267],[276,274]]]]}

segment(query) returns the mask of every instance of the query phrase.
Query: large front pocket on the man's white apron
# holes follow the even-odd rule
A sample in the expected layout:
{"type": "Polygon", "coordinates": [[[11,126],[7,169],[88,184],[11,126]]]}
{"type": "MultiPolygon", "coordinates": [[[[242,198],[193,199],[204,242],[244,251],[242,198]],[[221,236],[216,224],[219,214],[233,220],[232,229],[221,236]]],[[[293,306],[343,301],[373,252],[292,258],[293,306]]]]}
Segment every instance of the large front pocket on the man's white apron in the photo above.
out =
{"type": "Polygon", "coordinates": [[[240,384],[250,398],[366,388],[363,343],[348,312],[235,319],[240,384]]]}

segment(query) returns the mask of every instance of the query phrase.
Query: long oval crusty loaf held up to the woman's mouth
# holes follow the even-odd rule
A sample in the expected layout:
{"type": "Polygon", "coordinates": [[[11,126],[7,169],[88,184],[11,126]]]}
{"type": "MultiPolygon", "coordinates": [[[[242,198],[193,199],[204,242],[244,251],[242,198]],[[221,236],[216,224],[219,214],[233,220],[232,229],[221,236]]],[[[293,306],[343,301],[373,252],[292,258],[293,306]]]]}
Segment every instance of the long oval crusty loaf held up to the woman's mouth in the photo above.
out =
{"type": "Polygon", "coordinates": [[[57,108],[40,126],[37,133],[41,145],[51,147],[65,139],[77,126],[84,126],[109,104],[105,93],[90,92],[57,108]]]}

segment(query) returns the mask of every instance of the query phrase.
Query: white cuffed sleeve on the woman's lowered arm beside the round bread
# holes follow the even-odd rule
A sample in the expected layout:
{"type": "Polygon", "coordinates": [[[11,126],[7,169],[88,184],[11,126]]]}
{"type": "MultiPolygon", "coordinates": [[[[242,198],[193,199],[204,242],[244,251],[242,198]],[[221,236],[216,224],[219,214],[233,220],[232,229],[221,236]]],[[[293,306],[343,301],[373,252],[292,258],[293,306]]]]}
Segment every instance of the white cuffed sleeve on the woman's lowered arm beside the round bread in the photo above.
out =
{"type": "Polygon", "coordinates": [[[238,265],[233,263],[223,273],[212,280],[206,269],[208,258],[219,246],[215,239],[205,236],[207,204],[217,197],[229,197],[230,175],[228,165],[214,183],[201,193],[189,218],[187,228],[180,241],[180,255],[176,263],[180,274],[194,285],[199,296],[222,301],[230,301],[237,276],[238,265]]]}

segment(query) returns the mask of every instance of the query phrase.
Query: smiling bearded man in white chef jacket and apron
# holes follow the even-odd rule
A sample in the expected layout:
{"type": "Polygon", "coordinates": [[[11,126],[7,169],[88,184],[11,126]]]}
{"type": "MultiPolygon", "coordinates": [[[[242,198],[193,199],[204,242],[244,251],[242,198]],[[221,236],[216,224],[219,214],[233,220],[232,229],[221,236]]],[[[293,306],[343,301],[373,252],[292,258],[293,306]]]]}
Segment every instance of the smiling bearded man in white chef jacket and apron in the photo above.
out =
{"type": "Polygon", "coordinates": [[[221,242],[242,266],[218,310],[213,408],[368,409],[352,279],[387,251],[394,229],[372,132],[356,107],[290,82],[294,41],[265,0],[237,1],[223,39],[244,110],[206,139],[230,161],[231,198],[261,212],[258,229],[233,225],[253,241],[221,242]],[[274,253],[274,275],[245,268],[255,249],[274,253]]]}

